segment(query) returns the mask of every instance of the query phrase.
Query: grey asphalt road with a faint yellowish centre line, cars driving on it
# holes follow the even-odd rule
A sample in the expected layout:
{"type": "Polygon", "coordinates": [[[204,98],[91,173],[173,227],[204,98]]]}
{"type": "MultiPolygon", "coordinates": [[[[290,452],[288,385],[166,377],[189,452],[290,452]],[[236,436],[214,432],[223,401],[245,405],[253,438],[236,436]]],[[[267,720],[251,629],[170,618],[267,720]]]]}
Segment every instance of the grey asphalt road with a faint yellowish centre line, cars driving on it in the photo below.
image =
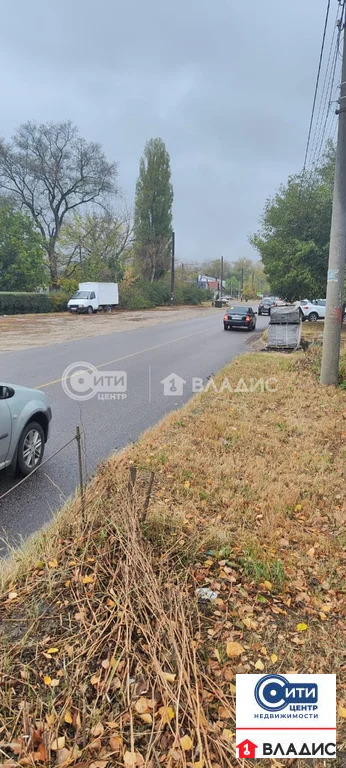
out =
{"type": "MultiPolygon", "coordinates": [[[[188,321],[0,354],[0,376],[8,382],[40,387],[46,392],[53,419],[45,458],[72,438],[76,425],[81,425],[90,477],[112,451],[135,441],[165,413],[186,402],[193,394],[193,378],[206,382],[208,376],[246,348],[253,334],[242,330],[224,332],[222,317],[220,310],[220,314],[211,312],[188,321]],[[124,371],[126,397],[107,400],[96,394],[82,402],[72,399],[61,380],[67,366],[79,362],[97,366],[100,377],[107,371],[124,371]],[[185,383],[176,379],[172,382],[172,374],[185,383]],[[161,382],[166,377],[166,391],[176,387],[173,394],[164,394],[161,382]]],[[[257,318],[257,330],[267,323],[267,318],[257,318]]],[[[82,375],[77,380],[67,379],[65,385],[74,385],[84,393],[89,391],[90,381],[82,375]]],[[[103,386],[105,381],[103,378],[103,386]]],[[[102,389],[100,385],[99,388],[102,389]]],[[[0,496],[15,482],[7,470],[1,472],[0,496]]],[[[2,536],[11,545],[18,545],[52,518],[77,483],[77,452],[73,442],[0,501],[2,536]]]]}

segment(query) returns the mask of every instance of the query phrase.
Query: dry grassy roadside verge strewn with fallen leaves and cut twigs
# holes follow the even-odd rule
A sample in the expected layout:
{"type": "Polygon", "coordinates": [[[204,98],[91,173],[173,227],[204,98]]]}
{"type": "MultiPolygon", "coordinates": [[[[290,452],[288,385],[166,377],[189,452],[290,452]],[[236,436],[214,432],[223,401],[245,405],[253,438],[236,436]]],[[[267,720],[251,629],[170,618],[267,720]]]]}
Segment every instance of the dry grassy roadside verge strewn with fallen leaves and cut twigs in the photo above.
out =
{"type": "Polygon", "coordinates": [[[256,671],[337,674],[342,760],[345,393],[310,364],[236,359],[100,469],[86,526],[76,500],[11,566],[5,764],[235,765],[235,674],[256,671]]]}

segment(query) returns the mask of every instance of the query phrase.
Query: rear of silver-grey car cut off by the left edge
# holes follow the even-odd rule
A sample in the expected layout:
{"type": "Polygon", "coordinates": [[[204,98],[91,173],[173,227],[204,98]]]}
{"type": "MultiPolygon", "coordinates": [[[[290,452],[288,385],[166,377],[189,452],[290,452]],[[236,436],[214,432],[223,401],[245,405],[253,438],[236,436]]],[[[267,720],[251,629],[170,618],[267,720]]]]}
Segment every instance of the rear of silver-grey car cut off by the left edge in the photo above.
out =
{"type": "Polygon", "coordinates": [[[42,461],[52,412],[37,389],[0,382],[0,469],[29,475],[42,461]]]}

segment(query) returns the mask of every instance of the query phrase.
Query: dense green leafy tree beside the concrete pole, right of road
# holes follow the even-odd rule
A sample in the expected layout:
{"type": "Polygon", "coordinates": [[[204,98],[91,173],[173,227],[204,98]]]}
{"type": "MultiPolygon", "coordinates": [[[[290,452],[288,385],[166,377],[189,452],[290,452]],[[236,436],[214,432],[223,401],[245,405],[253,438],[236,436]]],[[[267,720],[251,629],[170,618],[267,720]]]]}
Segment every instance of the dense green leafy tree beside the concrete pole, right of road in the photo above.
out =
{"type": "Polygon", "coordinates": [[[267,201],[261,229],[251,238],[272,290],[292,301],[325,296],[334,164],[328,144],[320,167],[290,177],[267,201]]]}

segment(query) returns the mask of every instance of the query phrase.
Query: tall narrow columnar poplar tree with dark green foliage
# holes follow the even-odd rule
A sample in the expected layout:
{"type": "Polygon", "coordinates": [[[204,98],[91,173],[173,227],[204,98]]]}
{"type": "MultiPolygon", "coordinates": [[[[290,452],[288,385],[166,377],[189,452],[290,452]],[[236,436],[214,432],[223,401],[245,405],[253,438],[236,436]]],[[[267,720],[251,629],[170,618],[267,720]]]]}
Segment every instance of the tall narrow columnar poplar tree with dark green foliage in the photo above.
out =
{"type": "Polygon", "coordinates": [[[151,282],[169,268],[172,204],[169,154],[162,139],[150,139],[139,164],[134,240],[139,270],[151,282]]]}

